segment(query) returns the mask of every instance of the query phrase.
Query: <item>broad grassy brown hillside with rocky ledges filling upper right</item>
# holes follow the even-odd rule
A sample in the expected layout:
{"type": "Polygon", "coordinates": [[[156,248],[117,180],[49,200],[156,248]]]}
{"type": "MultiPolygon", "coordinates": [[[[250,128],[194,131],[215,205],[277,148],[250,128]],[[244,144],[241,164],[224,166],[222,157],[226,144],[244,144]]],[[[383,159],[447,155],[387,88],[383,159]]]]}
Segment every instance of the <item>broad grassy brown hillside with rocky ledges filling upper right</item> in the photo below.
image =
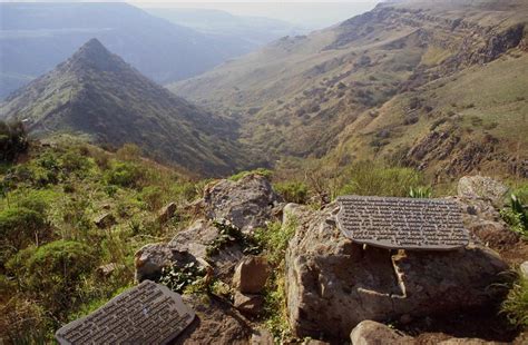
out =
{"type": "Polygon", "coordinates": [[[526,177],[527,18],[526,1],[382,3],[170,89],[237,119],[271,161],[526,177]]]}

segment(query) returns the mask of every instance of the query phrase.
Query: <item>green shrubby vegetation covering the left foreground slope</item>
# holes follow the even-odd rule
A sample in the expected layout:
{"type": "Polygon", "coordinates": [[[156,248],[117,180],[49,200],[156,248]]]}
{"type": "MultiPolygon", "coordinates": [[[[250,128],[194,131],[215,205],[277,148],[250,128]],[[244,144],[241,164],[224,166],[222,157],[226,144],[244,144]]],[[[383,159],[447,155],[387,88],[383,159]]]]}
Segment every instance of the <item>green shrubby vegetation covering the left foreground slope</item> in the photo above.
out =
{"type": "Polygon", "coordinates": [[[193,200],[195,184],[138,155],[63,137],[36,142],[28,159],[0,170],[1,338],[50,342],[60,325],[133,284],[137,249],[186,226],[185,216],[158,224],[157,213],[193,200]],[[116,221],[100,229],[95,219],[105,214],[116,221]]]}

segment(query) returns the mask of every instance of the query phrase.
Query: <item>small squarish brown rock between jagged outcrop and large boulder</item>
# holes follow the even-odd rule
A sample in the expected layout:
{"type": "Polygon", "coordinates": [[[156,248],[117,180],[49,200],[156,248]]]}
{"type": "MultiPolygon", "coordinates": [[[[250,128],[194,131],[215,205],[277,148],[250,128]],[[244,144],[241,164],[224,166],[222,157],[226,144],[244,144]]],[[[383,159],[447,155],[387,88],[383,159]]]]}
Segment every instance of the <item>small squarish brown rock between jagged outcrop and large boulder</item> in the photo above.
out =
{"type": "Polygon", "coordinates": [[[270,277],[270,265],[264,257],[244,257],[236,266],[233,286],[243,294],[258,294],[270,277]]]}

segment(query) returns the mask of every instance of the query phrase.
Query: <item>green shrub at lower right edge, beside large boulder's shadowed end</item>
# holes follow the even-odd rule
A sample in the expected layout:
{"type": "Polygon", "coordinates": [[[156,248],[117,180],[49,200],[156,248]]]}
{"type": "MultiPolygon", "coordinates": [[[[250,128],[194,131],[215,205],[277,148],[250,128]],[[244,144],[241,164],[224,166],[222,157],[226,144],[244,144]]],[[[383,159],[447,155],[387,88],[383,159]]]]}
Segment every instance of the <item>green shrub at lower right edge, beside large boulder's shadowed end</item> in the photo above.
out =
{"type": "Polygon", "coordinates": [[[521,274],[502,303],[502,313],[518,327],[528,327],[528,279],[521,274]]]}

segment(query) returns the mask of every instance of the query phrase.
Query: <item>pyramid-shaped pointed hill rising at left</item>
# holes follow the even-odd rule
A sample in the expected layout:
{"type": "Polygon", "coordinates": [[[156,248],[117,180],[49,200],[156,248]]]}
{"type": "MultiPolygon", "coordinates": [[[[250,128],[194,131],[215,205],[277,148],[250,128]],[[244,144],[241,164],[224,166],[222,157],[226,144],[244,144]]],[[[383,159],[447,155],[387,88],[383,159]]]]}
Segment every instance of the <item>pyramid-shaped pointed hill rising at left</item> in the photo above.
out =
{"type": "Polygon", "coordinates": [[[232,172],[241,156],[234,124],[175,97],[97,39],[10,96],[0,118],[26,120],[36,136],[74,132],[113,146],[134,142],[150,157],[208,175],[232,172]]]}

